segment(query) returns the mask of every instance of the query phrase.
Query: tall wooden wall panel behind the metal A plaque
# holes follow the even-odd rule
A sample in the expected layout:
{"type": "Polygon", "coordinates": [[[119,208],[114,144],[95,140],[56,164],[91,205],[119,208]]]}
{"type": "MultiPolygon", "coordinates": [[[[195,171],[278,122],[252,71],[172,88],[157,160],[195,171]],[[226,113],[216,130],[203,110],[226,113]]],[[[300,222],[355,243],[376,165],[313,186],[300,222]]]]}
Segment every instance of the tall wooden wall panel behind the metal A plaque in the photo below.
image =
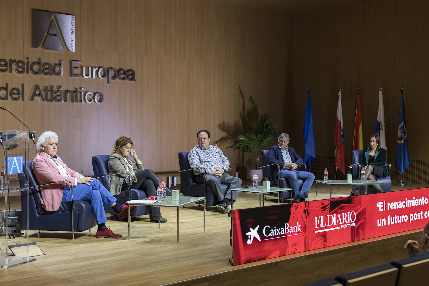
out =
{"type": "MultiPolygon", "coordinates": [[[[53,86],[53,89],[73,90],[80,86],[80,80],[69,76],[69,60],[80,57],[79,45],[76,43],[76,52],[50,51],[41,47],[31,48],[31,10],[43,9],[78,15],[80,3],[74,1],[62,1],[53,3],[51,1],[24,1],[24,57],[29,57],[30,63],[41,58],[42,63],[59,63],[63,60],[63,76],[54,75],[32,75],[24,74],[25,93],[24,101],[24,122],[33,130],[38,130],[36,140],[42,132],[51,130],[58,135],[58,155],[67,165],[80,172],[81,171],[81,141],[80,141],[80,113],[82,103],[76,102],[47,102],[41,101],[39,97],[34,97],[30,101],[31,93],[38,84],[42,93],[45,86],[53,86]]],[[[79,21],[79,20],[78,20],[79,21]]],[[[79,34],[79,22],[76,22],[76,33],[79,34]]],[[[23,59],[25,60],[25,58],[23,59]]],[[[33,143],[31,143],[33,144],[33,143]]],[[[36,155],[35,148],[30,146],[30,159],[36,155]]]]}

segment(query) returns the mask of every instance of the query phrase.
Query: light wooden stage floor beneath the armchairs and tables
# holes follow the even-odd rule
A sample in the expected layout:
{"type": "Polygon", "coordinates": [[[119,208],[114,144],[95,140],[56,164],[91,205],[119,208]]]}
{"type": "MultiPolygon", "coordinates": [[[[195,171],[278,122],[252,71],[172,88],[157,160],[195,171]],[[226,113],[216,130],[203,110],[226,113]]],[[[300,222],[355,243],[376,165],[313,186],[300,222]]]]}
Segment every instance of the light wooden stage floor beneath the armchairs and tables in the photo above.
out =
{"type": "MultiPolygon", "coordinates": [[[[317,186],[317,199],[329,198],[329,187],[322,186],[317,186]]],[[[392,188],[402,190],[421,187],[429,186],[408,185],[392,188]]],[[[332,188],[332,197],[348,196],[349,193],[350,187],[332,188]]],[[[308,199],[314,199],[314,186],[308,199]]],[[[12,197],[10,202],[11,209],[21,208],[19,197],[12,197]]],[[[0,203],[3,208],[3,198],[0,203]]],[[[265,201],[265,205],[276,203],[276,199],[265,201]]],[[[240,193],[234,208],[257,206],[258,195],[240,193]]],[[[285,256],[231,266],[228,261],[231,257],[231,220],[227,214],[219,214],[213,209],[207,208],[205,232],[203,213],[197,205],[180,209],[179,244],[176,243],[176,208],[161,208],[163,217],[168,220],[168,223],[161,225],[161,229],[158,229],[156,223],[149,223],[148,216],[133,218],[130,241],[127,240],[125,221],[109,220],[106,223],[114,232],[124,235],[122,239],[95,238],[96,228],[91,229],[91,233],[76,234],[75,241],[71,240],[71,233],[42,232],[38,235],[37,232],[30,231],[30,242],[36,242],[46,255],[37,256],[35,262],[8,269],[1,268],[0,284],[162,285],[288,258],[285,256]]],[[[0,242],[3,245],[5,239],[0,242]]],[[[8,243],[26,242],[26,238],[15,238],[8,243]]],[[[3,246],[1,249],[4,251],[3,246]]],[[[257,281],[254,283],[264,284],[257,281]]]]}

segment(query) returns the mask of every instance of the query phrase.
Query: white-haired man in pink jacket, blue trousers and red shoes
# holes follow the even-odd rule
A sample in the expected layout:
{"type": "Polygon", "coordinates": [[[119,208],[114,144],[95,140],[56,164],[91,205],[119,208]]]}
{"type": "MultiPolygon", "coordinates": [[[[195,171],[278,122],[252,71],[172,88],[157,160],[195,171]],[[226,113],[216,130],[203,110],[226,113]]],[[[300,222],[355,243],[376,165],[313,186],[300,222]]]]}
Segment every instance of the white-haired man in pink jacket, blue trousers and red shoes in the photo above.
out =
{"type": "MultiPolygon", "coordinates": [[[[39,154],[33,160],[33,172],[39,184],[58,181],[69,181],[73,184],[73,199],[91,203],[92,211],[97,220],[97,238],[122,238],[106,227],[106,214],[103,202],[116,211],[118,218],[128,214],[127,205],[116,204],[116,198],[98,180],[85,177],[73,171],[57,156],[58,136],[53,131],[45,131],[37,139],[36,149],[39,154]]],[[[41,187],[42,206],[46,211],[57,211],[62,202],[72,200],[70,184],[51,184],[41,187]]],[[[131,207],[130,211],[133,210],[131,207]]]]}

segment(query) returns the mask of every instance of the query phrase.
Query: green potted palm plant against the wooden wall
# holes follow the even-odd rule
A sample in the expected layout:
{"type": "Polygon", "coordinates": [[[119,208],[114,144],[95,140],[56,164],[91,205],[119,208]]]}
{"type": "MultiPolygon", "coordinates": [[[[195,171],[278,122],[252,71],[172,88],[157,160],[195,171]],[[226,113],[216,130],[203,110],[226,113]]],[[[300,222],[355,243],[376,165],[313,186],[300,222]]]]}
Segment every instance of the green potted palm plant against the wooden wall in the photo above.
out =
{"type": "Polygon", "coordinates": [[[249,103],[252,109],[251,118],[244,112],[240,112],[240,117],[247,125],[247,132],[237,136],[234,143],[228,146],[227,149],[239,150],[242,154],[249,153],[251,158],[249,178],[252,178],[253,174],[257,173],[258,181],[262,181],[262,169],[259,169],[259,154],[262,147],[278,134],[278,127],[269,123],[271,115],[268,113],[259,114],[258,105],[251,96],[249,96],[249,103]]]}

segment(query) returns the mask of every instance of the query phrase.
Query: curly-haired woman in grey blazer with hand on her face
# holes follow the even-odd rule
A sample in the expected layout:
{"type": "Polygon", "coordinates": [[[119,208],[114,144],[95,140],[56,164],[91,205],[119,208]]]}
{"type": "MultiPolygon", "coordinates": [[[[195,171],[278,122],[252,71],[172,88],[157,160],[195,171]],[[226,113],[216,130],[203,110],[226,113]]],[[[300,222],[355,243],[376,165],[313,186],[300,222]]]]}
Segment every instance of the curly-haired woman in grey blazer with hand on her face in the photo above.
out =
{"type": "MultiPolygon", "coordinates": [[[[122,191],[130,189],[143,190],[146,196],[156,196],[160,181],[150,169],[144,169],[143,163],[134,150],[133,141],[121,136],[116,139],[113,151],[109,158],[109,174],[122,173],[110,176],[109,191],[113,195],[119,195],[122,191]],[[130,160],[131,155],[134,161],[130,160]],[[130,186],[128,186],[128,184],[130,186]]],[[[159,207],[149,207],[149,220],[151,223],[158,222],[159,207]]],[[[161,216],[161,223],[167,220],[161,216]]]]}

